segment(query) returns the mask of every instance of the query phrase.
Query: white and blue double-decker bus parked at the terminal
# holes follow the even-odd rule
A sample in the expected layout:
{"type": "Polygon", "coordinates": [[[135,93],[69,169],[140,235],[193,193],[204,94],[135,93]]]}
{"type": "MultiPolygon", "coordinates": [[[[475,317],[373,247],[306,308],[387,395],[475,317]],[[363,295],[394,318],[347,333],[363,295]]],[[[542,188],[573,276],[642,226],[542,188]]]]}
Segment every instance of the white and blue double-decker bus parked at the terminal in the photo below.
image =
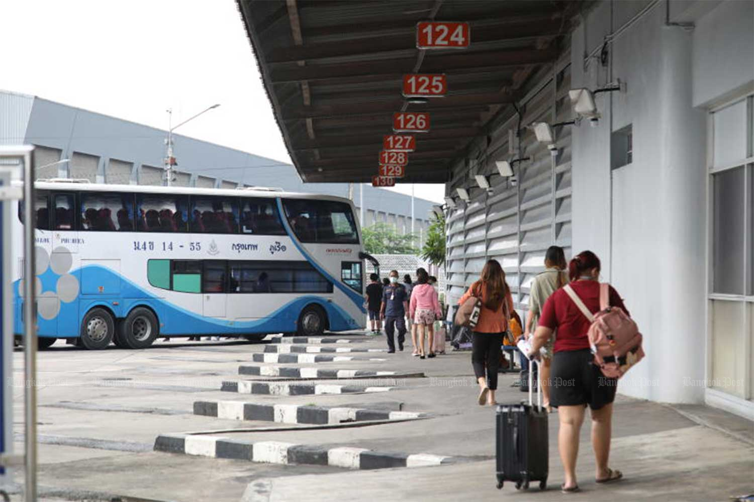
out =
{"type": "MultiPolygon", "coordinates": [[[[158,336],[363,329],[351,200],[274,189],[35,183],[40,347],[149,347],[158,336]]],[[[23,332],[23,210],[14,225],[23,332]]]]}

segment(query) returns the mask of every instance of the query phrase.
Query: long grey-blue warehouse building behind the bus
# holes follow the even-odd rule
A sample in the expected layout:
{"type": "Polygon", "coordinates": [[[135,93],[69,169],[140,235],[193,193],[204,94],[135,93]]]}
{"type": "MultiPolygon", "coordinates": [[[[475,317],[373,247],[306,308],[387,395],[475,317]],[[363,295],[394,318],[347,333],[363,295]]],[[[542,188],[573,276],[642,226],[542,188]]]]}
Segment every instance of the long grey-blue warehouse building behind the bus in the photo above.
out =
{"type": "MultiPolygon", "coordinates": [[[[167,131],[48,99],[0,90],[0,144],[35,145],[38,179],[75,178],[90,182],[162,185],[167,131]],[[56,164],[62,159],[68,162],[56,164]],[[47,167],[45,167],[47,166],[47,167]]],[[[173,185],[199,188],[268,186],[348,197],[346,183],[303,183],[292,165],[200,139],[173,134],[178,161],[173,185]]],[[[354,185],[362,225],[394,225],[411,232],[411,197],[371,185],[354,185]],[[363,204],[360,197],[363,194],[363,204]],[[363,213],[360,208],[363,205],[363,213]]],[[[432,210],[414,198],[414,232],[421,246],[432,210]]]]}

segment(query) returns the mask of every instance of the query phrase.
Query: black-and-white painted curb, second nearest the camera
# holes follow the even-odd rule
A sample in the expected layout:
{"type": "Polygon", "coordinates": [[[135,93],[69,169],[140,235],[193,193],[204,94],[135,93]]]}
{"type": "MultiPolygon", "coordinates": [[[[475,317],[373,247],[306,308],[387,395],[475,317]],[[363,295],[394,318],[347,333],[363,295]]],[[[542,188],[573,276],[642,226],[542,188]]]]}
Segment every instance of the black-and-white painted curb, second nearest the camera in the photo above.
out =
{"type": "Polygon", "coordinates": [[[194,415],[229,420],[271,421],[278,424],[342,424],[369,420],[412,420],[426,413],[391,412],[382,409],[257,404],[242,401],[195,401],[194,415]]]}

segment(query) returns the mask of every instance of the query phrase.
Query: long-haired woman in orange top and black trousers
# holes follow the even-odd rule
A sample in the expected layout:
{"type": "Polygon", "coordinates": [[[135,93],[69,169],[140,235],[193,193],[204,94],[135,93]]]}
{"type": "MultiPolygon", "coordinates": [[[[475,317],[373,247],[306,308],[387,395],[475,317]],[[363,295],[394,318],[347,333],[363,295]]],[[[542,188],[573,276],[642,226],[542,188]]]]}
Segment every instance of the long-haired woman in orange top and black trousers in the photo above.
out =
{"type": "Polygon", "coordinates": [[[484,265],[480,280],[471,285],[458,303],[466,302],[471,296],[482,300],[479,322],[471,335],[471,366],[474,366],[474,375],[479,382],[479,403],[495,405],[501,345],[513,312],[510,288],[497,260],[489,260],[484,265]]]}

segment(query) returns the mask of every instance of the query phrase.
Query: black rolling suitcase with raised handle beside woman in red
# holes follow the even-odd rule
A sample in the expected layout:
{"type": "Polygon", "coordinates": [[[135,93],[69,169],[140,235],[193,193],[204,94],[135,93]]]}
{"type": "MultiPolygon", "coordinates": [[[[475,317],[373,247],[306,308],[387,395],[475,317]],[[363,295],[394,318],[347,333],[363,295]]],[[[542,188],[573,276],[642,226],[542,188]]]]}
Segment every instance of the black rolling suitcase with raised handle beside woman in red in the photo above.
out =
{"type": "Polygon", "coordinates": [[[539,388],[537,404],[532,403],[532,373],[529,371],[529,403],[498,405],[495,418],[498,489],[503,488],[505,481],[515,482],[516,489],[528,489],[529,482],[537,481],[540,489],[547,488],[547,410],[542,407],[539,388]]]}

